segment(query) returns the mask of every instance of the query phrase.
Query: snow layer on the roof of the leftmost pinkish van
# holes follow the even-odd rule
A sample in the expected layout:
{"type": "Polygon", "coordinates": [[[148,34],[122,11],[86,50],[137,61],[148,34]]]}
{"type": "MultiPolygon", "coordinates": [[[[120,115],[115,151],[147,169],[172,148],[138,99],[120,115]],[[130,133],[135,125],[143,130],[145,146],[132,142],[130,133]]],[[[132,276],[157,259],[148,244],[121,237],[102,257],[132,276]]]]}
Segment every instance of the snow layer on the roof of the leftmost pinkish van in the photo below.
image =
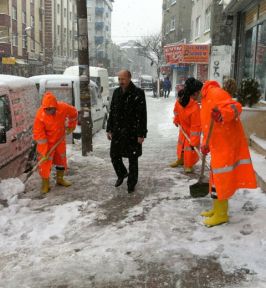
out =
{"type": "Polygon", "coordinates": [[[32,86],[35,87],[34,82],[28,78],[0,74],[0,86],[2,85],[5,87],[8,87],[8,89],[10,90],[17,90],[17,89],[28,88],[32,86]]]}

